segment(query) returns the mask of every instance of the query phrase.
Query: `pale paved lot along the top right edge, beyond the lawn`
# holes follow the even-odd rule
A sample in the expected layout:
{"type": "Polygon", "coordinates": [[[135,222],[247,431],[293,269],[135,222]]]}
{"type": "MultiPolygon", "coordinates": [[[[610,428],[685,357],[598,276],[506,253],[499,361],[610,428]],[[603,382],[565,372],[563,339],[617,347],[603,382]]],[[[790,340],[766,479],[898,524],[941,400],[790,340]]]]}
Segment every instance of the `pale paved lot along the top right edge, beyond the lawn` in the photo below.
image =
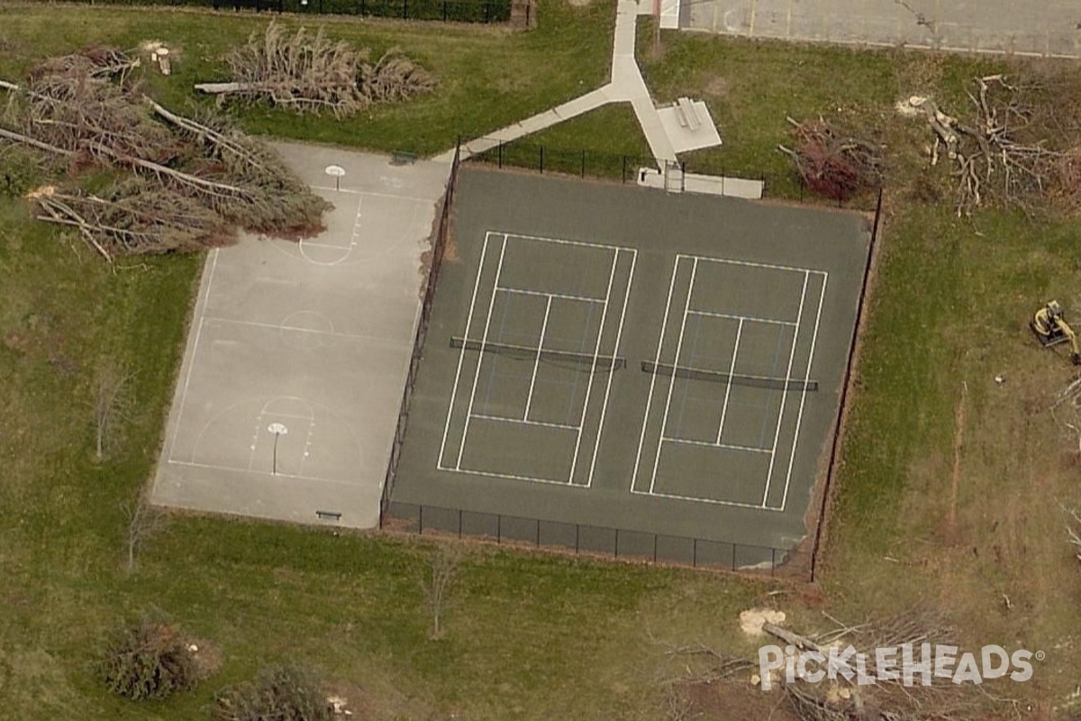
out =
{"type": "Polygon", "coordinates": [[[1078,0],[683,0],[680,26],[748,38],[1081,57],[1078,0]]]}

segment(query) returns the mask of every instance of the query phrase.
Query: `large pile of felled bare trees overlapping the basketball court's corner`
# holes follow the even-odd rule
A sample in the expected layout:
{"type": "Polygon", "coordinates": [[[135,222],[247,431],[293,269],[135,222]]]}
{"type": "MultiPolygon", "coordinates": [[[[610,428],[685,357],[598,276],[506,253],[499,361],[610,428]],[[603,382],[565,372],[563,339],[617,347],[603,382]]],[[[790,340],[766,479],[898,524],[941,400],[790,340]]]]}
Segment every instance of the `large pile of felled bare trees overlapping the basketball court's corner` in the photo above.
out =
{"type": "Polygon", "coordinates": [[[0,81],[0,152],[19,146],[63,182],[30,193],[38,217],[70,226],[106,259],[232,242],[240,229],[298,237],[330,204],[262,143],[217,118],[144,95],[138,59],[95,48],[0,81]]]}

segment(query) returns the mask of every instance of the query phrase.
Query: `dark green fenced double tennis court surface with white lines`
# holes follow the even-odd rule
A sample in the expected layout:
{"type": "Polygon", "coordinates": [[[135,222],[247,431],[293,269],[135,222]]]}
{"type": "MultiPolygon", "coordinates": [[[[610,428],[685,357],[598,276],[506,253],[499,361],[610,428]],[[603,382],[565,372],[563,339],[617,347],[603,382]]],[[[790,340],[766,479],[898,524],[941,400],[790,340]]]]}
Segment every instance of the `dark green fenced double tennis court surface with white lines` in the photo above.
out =
{"type": "Polygon", "coordinates": [[[464,168],[452,239],[390,517],[740,565],[813,530],[864,217],[464,168]]]}

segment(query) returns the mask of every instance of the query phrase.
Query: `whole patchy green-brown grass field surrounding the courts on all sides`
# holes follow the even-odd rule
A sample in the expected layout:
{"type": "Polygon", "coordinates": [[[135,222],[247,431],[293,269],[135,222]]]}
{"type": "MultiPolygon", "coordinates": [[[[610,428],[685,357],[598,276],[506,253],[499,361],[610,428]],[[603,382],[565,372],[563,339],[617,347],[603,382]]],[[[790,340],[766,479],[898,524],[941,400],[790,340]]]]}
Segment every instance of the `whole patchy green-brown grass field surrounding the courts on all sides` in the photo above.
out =
{"type": "MultiPolygon", "coordinates": [[[[529,34],[331,21],[329,31],[376,51],[402,45],[436,71],[440,91],[349,122],[235,114],[250,130],[283,137],[440,150],[459,133],[483,134],[604,78],[612,5],[553,1],[540,12],[540,29],[529,34]]],[[[221,52],[265,22],[3,5],[0,77],[88,43],[164,40],[182,49],[176,72],[151,76],[149,91],[183,109],[208,103],[192,101],[191,83],[215,79],[221,52]]],[[[1044,650],[1033,683],[999,690],[1039,708],[1059,704],[1076,685],[1081,580],[1057,504],[1081,503],[1081,492],[1076,439],[1045,409],[1070,371],[1035,347],[1025,322],[1051,296],[1081,309],[1072,261],[1081,231],[1004,212],[959,221],[948,196],[916,200],[927,136],[892,110],[895,97],[915,92],[957,105],[966,78],[997,66],[664,38],[663,55],[643,61],[657,99],[706,97],[725,138],[721,150],[692,157],[704,169],[784,174],[775,146],[787,139],[786,115],[870,128],[889,147],[889,217],[825,557],[830,613],[858,619],[931,599],[964,626],[966,642],[1044,650]]],[[[615,107],[539,139],[633,152],[642,141],[628,137],[632,128],[615,107]]],[[[0,198],[0,716],[209,718],[214,691],[290,659],[321,669],[373,719],[664,719],[670,645],[753,653],[736,627],[751,605],[780,605],[798,624],[820,619],[799,589],[764,579],[477,547],[450,595],[446,638],[431,641],[421,591],[428,544],[187,515],[170,517],[129,576],[121,506],[151,473],[198,269],[196,257],[109,269],[32,222],[23,200],[0,198]],[[122,442],[95,463],[95,378],[110,365],[133,373],[130,410],[122,442]],[[777,589],[785,592],[766,597],[777,589]],[[109,697],[90,670],[97,640],[147,609],[208,639],[221,673],[164,703],[109,697]]],[[[708,708],[702,718],[736,721],[708,708]]]]}

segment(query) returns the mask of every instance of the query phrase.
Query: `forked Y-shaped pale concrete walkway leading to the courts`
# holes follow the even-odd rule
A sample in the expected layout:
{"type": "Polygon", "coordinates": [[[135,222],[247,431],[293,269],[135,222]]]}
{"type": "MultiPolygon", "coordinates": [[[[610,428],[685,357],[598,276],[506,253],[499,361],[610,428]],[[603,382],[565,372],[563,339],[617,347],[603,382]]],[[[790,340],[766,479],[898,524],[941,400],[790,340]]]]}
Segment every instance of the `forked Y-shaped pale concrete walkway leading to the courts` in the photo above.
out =
{"type": "MultiPolygon", "coordinates": [[[[608,84],[490,135],[465,142],[462,144],[462,157],[468,158],[484,152],[501,143],[509,143],[545,128],[551,128],[609,103],[630,103],[658,166],[665,161],[676,162],[676,150],[671,138],[660,122],[657,108],[650,97],[650,90],[645,86],[638,63],[635,61],[636,21],[639,15],[649,15],[651,12],[652,3],[648,0],[643,0],[641,5],[635,0],[619,0],[615,17],[615,42],[612,48],[612,80],[608,84]]],[[[448,150],[433,158],[440,162],[451,162],[453,159],[454,150],[448,150]]]]}

